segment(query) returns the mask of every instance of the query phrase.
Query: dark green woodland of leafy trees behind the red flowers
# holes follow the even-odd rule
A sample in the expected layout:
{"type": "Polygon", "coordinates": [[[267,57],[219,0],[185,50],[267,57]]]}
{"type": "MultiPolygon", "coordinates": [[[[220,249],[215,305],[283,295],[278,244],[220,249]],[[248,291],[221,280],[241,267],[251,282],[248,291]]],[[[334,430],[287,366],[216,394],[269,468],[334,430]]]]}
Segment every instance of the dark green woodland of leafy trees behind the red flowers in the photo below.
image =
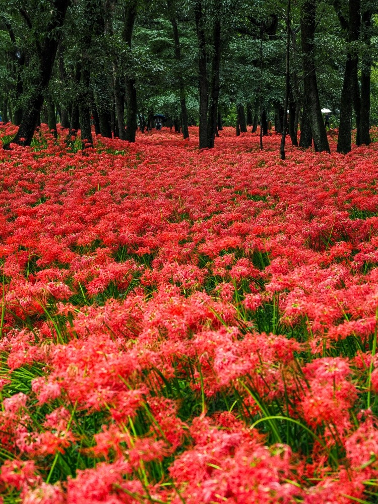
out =
{"type": "Polygon", "coordinates": [[[378,122],[377,13],[376,0],[3,1],[2,120],[21,145],[41,122],[134,142],[162,114],[184,138],[199,125],[200,147],[223,124],[272,123],[329,151],[329,110],[346,153],[352,129],[368,144],[378,122]]]}

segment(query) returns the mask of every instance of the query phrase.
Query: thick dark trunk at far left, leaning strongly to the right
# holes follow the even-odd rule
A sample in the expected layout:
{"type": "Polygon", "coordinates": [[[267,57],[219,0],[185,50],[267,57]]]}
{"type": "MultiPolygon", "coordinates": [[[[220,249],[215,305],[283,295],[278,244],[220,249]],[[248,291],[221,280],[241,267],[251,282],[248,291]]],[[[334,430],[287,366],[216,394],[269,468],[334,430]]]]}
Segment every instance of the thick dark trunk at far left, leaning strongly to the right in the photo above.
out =
{"type": "Polygon", "coordinates": [[[59,43],[60,28],[62,27],[70,0],[55,0],[52,5],[55,12],[48,23],[47,33],[41,44],[39,53],[39,65],[36,76],[36,93],[25,106],[20,128],[16,137],[12,140],[19,145],[30,145],[34,131],[37,126],[39,113],[41,111],[44,95],[50,82],[52,68],[54,65],[56,50],[59,43]]]}

